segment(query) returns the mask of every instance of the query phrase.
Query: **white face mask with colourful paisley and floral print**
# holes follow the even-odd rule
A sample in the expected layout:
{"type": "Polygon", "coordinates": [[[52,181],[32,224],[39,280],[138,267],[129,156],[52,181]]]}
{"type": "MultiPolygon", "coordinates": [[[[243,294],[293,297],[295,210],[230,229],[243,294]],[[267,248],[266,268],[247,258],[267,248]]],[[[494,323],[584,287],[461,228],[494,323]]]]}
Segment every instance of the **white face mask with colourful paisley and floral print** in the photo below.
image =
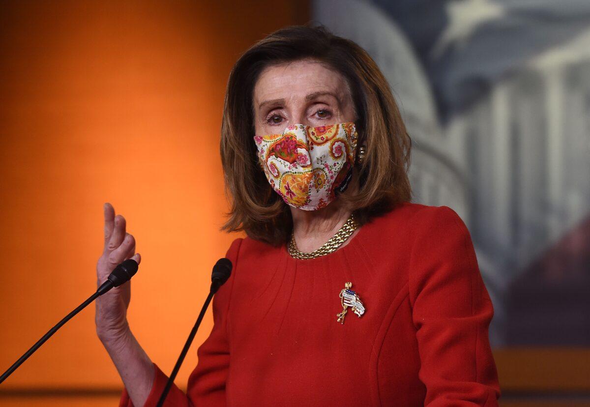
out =
{"type": "Polygon", "coordinates": [[[283,201],[304,211],[324,208],[346,189],[357,139],[352,122],[293,124],[283,133],[254,136],[268,182],[283,201]]]}

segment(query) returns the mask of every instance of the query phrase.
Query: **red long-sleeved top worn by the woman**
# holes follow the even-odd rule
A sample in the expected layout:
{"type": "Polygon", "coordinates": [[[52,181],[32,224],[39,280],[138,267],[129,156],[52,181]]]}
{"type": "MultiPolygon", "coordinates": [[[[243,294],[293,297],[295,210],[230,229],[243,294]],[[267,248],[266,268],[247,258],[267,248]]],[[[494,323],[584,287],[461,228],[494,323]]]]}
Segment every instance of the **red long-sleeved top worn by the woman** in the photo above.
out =
{"type": "MultiPolygon", "coordinates": [[[[188,391],[173,386],[166,406],[498,405],[493,307],[453,209],[400,204],[310,260],[251,238],[227,257],[188,391]],[[365,313],[340,324],[347,281],[365,313]]],[[[146,406],[167,379],[154,369],[146,406]]]]}

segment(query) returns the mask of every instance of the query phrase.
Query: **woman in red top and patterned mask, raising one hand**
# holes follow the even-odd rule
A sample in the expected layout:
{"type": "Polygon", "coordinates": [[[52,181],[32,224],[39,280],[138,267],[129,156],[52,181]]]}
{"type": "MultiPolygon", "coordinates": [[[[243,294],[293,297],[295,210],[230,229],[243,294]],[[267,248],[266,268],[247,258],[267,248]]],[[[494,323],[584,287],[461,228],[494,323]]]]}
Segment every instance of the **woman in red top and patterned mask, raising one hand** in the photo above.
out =
{"type": "MultiPolygon", "coordinates": [[[[213,300],[187,393],[170,406],[496,406],[493,316],[469,232],[413,204],[410,139],[388,83],[323,28],[268,35],[231,71],[221,129],[230,279],[213,300]]],[[[132,257],[105,205],[99,282],[132,257]]],[[[126,321],[129,285],[97,301],[122,406],[155,405],[166,376],[126,321]]]]}

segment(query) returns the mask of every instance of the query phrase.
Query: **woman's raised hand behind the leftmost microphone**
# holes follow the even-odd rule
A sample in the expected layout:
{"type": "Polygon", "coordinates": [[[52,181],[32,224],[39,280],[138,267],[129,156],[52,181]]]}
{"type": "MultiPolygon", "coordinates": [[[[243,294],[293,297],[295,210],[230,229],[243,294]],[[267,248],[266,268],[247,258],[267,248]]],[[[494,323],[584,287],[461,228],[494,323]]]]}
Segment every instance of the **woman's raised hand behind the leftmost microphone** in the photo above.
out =
{"type": "MultiPolygon", "coordinates": [[[[117,264],[132,258],[141,261],[135,253],[135,238],[126,232],[122,215],[115,216],[111,204],[104,204],[104,249],[96,264],[97,287],[109,277],[117,264]]],[[[127,307],[131,299],[131,281],[112,288],[96,300],[96,332],[103,343],[116,342],[129,330],[127,307]]]]}

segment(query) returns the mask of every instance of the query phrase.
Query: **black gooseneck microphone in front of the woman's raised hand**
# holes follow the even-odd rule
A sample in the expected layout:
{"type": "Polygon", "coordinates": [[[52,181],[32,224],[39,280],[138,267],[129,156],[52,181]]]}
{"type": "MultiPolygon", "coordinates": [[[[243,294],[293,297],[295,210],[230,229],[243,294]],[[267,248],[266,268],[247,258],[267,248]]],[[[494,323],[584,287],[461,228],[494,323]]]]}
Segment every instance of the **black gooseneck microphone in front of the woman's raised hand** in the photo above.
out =
{"type": "Polygon", "coordinates": [[[14,364],[11,367],[9,367],[8,370],[6,370],[6,372],[2,373],[2,376],[0,376],[0,383],[4,382],[4,380],[6,380],[6,378],[8,378],[8,376],[12,374],[12,372],[17,370],[17,368],[21,366],[22,363],[35,352],[35,350],[39,349],[39,347],[42,344],[44,344],[45,341],[50,339],[50,337],[58,329],[60,329],[67,321],[69,321],[74,315],[86,308],[88,304],[92,303],[92,301],[96,300],[96,298],[100,297],[101,295],[109,291],[111,288],[119,287],[119,285],[129,281],[131,277],[133,277],[133,275],[137,273],[138,267],[139,265],[137,264],[137,262],[131,258],[117,265],[117,267],[114,268],[113,272],[109,274],[109,277],[107,277],[107,281],[101,284],[94,294],[92,294],[86,301],[77,306],[76,309],[71,311],[71,313],[67,314],[67,316],[65,316],[63,320],[59,321],[53,328],[47,331],[47,333],[44,334],[41,337],[41,339],[37,341],[37,343],[31,346],[31,348],[27,350],[27,352],[25,352],[24,355],[19,357],[19,359],[16,362],[14,362],[14,364]]]}

